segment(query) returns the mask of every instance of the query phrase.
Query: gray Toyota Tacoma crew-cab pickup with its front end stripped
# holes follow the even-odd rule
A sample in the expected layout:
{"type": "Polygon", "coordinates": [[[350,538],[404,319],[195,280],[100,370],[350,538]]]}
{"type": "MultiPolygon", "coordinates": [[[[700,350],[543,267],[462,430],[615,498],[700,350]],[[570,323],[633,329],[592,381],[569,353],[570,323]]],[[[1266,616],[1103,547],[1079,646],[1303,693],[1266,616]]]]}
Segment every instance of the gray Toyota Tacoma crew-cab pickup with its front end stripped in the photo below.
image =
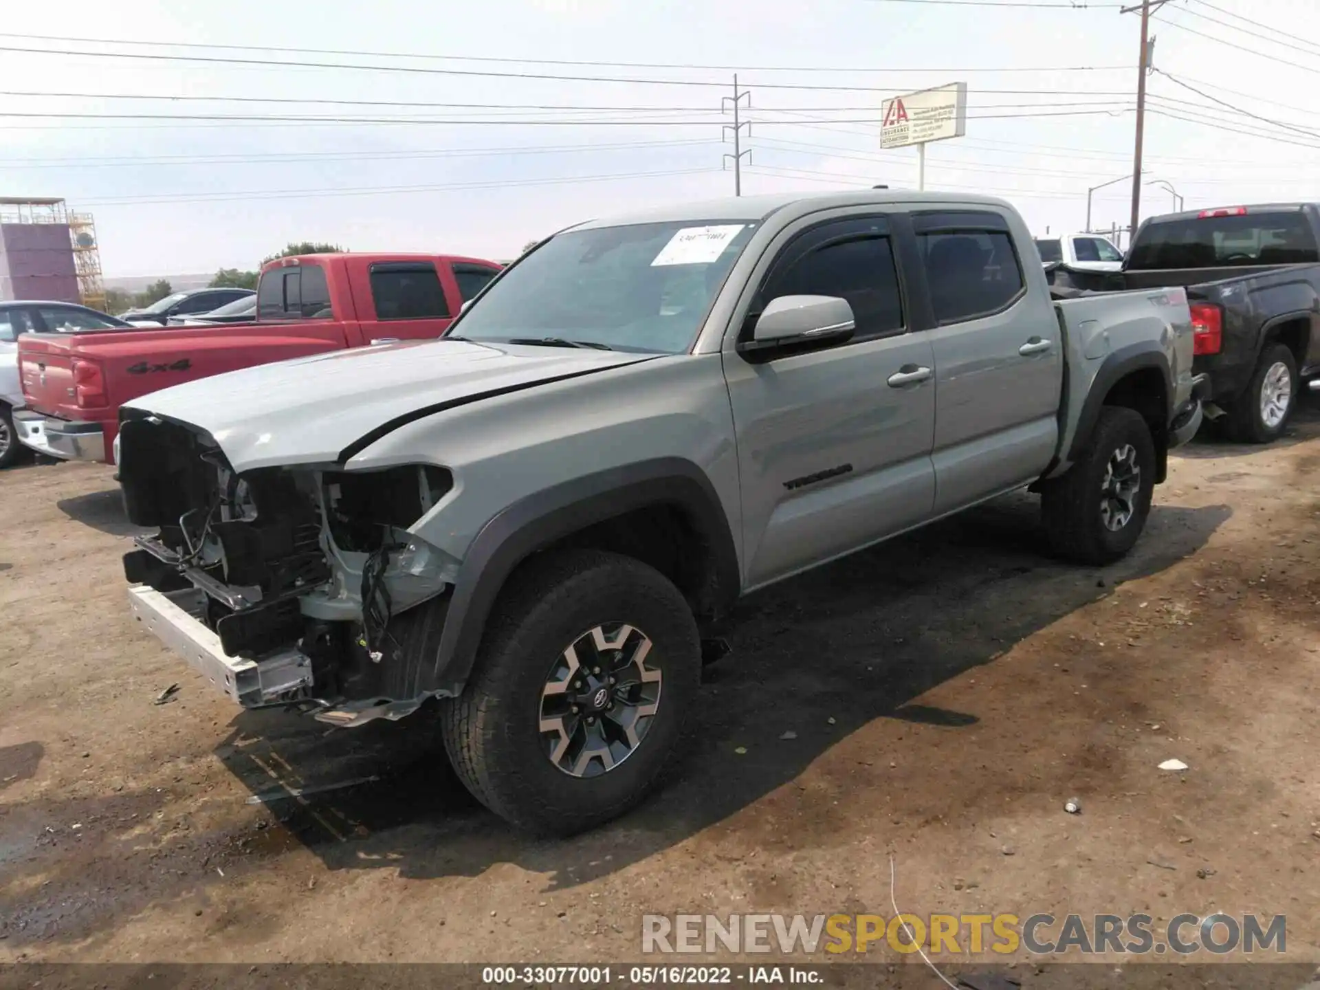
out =
{"type": "Polygon", "coordinates": [[[1023,487],[1114,561],[1197,391],[1181,289],[1056,302],[998,199],[669,207],[549,238],[438,341],[133,400],[124,569],[238,704],[438,698],[473,793],[568,834],[673,762],[739,595],[1023,487]]]}

